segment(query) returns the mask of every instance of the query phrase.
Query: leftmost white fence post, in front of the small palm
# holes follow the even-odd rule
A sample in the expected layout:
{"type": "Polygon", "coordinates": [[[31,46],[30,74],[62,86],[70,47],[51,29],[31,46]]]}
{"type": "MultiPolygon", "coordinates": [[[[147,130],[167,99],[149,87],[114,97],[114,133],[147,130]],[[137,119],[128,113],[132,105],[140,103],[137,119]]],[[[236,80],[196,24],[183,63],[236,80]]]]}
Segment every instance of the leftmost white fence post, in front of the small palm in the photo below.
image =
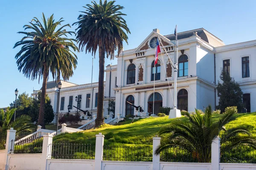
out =
{"type": "Polygon", "coordinates": [[[14,143],[15,143],[15,135],[16,135],[16,130],[13,130],[13,127],[11,129],[7,130],[7,136],[6,136],[6,150],[5,150],[5,158],[4,160],[6,161],[5,163],[5,170],[8,170],[8,154],[12,152],[12,149],[14,149],[14,143]]]}

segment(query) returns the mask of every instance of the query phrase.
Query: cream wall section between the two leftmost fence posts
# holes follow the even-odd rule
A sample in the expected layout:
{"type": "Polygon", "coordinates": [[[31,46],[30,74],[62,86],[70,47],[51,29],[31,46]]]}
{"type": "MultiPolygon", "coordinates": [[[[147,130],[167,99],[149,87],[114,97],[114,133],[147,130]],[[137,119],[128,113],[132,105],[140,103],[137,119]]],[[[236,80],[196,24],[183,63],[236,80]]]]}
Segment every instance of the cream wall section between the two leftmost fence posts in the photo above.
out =
{"type": "Polygon", "coordinates": [[[8,154],[8,170],[40,170],[42,154],[8,154]]]}

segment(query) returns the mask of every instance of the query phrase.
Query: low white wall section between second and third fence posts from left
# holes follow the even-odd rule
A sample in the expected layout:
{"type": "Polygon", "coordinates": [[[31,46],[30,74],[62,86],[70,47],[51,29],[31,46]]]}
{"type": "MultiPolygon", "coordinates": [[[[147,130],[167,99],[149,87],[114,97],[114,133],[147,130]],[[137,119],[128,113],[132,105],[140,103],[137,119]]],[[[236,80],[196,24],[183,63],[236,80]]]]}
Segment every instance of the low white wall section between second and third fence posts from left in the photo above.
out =
{"type": "Polygon", "coordinates": [[[47,159],[46,170],[94,170],[94,160],[47,159]]]}

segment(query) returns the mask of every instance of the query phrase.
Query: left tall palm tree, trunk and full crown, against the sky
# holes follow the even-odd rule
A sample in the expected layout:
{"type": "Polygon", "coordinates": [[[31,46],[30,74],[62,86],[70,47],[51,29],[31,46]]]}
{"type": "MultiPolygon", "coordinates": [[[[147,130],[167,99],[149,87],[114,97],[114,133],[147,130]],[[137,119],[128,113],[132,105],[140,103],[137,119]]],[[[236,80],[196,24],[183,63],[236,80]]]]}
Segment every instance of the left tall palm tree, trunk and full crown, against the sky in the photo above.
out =
{"type": "Polygon", "coordinates": [[[64,80],[68,80],[77,64],[77,57],[73,51],[79,49],[74,44],[77,41],[67,37],[68,34],[75,33],[66,31],[65,27],[70,27],[69,24],[61,26],[64,21],[62,18],[55,22],[52,14],[46,20],[43,13],[42,20],[43,25],[34,17],[29,25],[23,26],[25,30],[30,29],[31,32],[18,32],[25,34],[25,37],[16,42],[13,48],[21,45],[15,59],[18,70],[22,71],[25,77],[32,80],[40,80],[43,77],[38,125],[44,128],[44,105],[49,72],[52,73],[53,79],[60,80],[62,76],[64,80]]]}

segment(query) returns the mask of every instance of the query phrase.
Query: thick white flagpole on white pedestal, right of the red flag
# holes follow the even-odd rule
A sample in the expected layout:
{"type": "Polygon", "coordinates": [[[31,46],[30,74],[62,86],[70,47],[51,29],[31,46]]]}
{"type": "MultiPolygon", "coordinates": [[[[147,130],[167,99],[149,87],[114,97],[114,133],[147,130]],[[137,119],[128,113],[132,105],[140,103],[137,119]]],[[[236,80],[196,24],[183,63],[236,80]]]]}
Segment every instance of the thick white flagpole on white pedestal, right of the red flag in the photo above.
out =
{"type": "Polygon", "coordinates": [[[174,109],[177,109],[177,68],[178,68],[178,39],[177,39],[177,25],[175,27],[176,32],[176,56],[174,57],[174,109]]]}

